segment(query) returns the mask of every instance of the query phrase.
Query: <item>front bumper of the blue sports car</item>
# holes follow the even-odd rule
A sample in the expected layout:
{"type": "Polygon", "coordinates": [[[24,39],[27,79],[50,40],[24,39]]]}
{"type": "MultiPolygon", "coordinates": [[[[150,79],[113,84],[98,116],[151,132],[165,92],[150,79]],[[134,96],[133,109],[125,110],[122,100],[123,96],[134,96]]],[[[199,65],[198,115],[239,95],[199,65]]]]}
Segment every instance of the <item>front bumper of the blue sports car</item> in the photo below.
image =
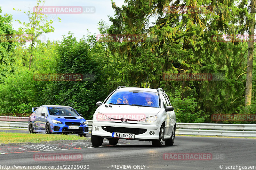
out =
{"type": "Polygon", "coordinates": [[[68,129],[67,125],[53,124],[51,125],[51,133],[89,134],[88,125],[76,127],[78,127],[78,129],[68,129]]]}

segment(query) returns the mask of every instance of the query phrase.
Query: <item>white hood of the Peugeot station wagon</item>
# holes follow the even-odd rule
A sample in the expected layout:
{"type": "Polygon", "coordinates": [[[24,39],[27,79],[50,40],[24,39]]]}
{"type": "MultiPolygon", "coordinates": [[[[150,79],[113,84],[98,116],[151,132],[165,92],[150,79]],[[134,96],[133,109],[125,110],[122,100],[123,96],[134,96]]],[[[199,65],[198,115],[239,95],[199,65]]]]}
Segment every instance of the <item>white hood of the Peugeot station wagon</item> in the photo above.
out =
{"type": "Polygon", "coordinates": [[[160,110],[161,108],[157,107],[140,107],[130,105],[101,105],[98,109],[98,112],[108,116],[111,119],[128,118],[133,120],[140,120],[149,116],[155,116],[158,114],[160,110]]]}

